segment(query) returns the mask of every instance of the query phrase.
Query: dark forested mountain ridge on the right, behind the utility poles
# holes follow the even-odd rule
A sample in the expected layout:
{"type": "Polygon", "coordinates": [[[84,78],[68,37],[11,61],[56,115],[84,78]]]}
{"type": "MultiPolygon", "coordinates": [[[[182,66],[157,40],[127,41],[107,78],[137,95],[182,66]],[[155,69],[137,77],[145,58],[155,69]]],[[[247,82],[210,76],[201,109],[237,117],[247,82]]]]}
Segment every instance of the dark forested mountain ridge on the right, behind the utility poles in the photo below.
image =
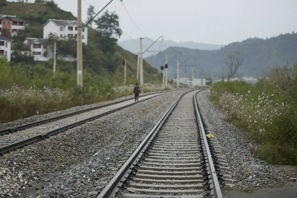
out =
{"type": "MultiPolygon", "coordinates": [[[[176,58],[179,58],[180,65],[196,65],[195,77],[200,78],[201,69],[204,77],[221,77],[224,73],[223,67],[227,68],[224,61],[224,54],[232,54],[239,50],[243,58],[239,72],[244,76],[259,77],[262,72],[268,72],[269,68],[284,66],[289,63],[292,67],[297,61],[297,33],[281,34],[277,37],[259,39],[249,38],[242,42],[234,42],[222,47],[219,50],[197,50],[184,47],[169,47],[165,51],[159,52],[146,61],[160,70],[160,66],[165,63],[165,53],[168,53],[168,77],[176,76],[176,58]],[[181,52],[181,53],[180,53],[181,52]],[[185,62],[184,62],[185,61],[185,62]]],[[[180,67],[180,77],[191,77],[190,67],[180,67]]]]}

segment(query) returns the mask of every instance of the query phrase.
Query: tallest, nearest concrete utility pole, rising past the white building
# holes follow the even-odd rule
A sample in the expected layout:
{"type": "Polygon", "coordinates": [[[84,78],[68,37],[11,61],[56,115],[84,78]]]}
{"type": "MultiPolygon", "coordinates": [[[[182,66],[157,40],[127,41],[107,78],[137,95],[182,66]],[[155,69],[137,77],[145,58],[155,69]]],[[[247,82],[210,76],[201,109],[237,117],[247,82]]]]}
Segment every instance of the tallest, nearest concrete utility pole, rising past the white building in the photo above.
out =
{"type": "Polygon", "coordinates": [[[77,85],[83,86],[83,46],[81,43],[81,0],[77,3],[77,85]]]}

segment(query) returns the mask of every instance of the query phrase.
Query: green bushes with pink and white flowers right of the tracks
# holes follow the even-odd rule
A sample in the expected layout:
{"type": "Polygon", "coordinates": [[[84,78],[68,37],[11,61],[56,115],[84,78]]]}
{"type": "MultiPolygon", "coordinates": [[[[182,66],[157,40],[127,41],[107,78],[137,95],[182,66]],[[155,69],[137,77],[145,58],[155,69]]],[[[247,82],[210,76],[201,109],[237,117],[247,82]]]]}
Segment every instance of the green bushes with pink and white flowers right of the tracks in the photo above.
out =
{"type": "Polygon", "coordinates": [[[225,119],[245,129],[260,159],[275,164],[297,164],[297,63],[271,70],[256,85],[243,81],[210,86],[209,98],[225,119]]]}

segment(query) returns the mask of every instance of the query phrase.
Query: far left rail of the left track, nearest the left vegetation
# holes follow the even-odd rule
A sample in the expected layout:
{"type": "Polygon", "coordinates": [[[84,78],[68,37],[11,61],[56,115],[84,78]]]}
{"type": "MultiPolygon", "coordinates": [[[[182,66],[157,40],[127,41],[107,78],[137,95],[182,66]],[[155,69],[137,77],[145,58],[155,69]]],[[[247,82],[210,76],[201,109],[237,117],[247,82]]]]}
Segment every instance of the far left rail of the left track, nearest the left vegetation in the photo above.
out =
{"type": "MultiPolygon", "coordinates": [[[[168,92],[173,92],[173,91],[180,91],[180,90],[159,91],[159,92],[156,92],[156,93],[153,93],[153,94],[168,93],[168,92]]],[[[139,96],[139,97],[149,96],[149,95],[153,95],[153,94],[146,94],[146,95],[142,95],[142,96],[139,96]]],[[[35,121],[35,122],[31,122],[31,123],[27,123],[27,124],[23,124],[23,125],[19,125],[19,126],[14,126],[14,127],[6,128],[6,129],[1,129],[0,130],[0,135],[17,132],[17,131],[27,129],[27,128],[30,128],[30,127],[33,127],[33,126],[38,126],[40,124],[45,124],[45,123],[48,123],[48,122],[60,120],[60,119],[63,119],[63,118],[70,117],[72,115],[77,115],[77,114],[88,112],[88,111],[91,111],[91,110],[100,109],[100,108],[103,108],[103,107],[108,107],[108,106],[111,106],[113,104],[119,104],[121,102],[126,102],[126,101],[132,100],[132,99],[134,99],[134,98],[128,98],[128,99],[120,100],[120,101],[117,101],[117,102],[112,102],[112,103],[109,103],[109,104],[103,104],[103,105],[99,105],[99,106],[96,106],[96,107],[90,107],[90,108],[86,108],[86,109],[83,109],[83,110],[78,110],[78,111],[75,111],[75,112],[72,112],[72,113],[66,113],[66,114],[63,114],[63,115],[58,115],[58,116],[55,116],[55,117],[52,117],[52,118],[46,118],[46,119],[43,119],[43,120],[39,120],[39,121],[35,121]]]]}

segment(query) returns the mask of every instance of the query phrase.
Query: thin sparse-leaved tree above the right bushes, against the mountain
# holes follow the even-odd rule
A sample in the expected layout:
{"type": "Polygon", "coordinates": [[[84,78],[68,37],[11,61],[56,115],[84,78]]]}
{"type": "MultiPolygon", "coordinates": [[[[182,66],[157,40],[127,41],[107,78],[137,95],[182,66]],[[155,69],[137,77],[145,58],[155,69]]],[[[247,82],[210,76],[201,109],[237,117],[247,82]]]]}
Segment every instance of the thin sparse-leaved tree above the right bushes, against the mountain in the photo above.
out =
{"type": "MultiPolygon", "coordinates": [[[[225,55],[223,55],[225,56],[225,55]]],[[[233,55],[228,55],[225,57],[225,62],[227,64],[227,79],[230,81],[232,77],[236,77],[237,70],[241,66],[243,58],[240,58],[240,51],[236,50],[233,55]]]]}

